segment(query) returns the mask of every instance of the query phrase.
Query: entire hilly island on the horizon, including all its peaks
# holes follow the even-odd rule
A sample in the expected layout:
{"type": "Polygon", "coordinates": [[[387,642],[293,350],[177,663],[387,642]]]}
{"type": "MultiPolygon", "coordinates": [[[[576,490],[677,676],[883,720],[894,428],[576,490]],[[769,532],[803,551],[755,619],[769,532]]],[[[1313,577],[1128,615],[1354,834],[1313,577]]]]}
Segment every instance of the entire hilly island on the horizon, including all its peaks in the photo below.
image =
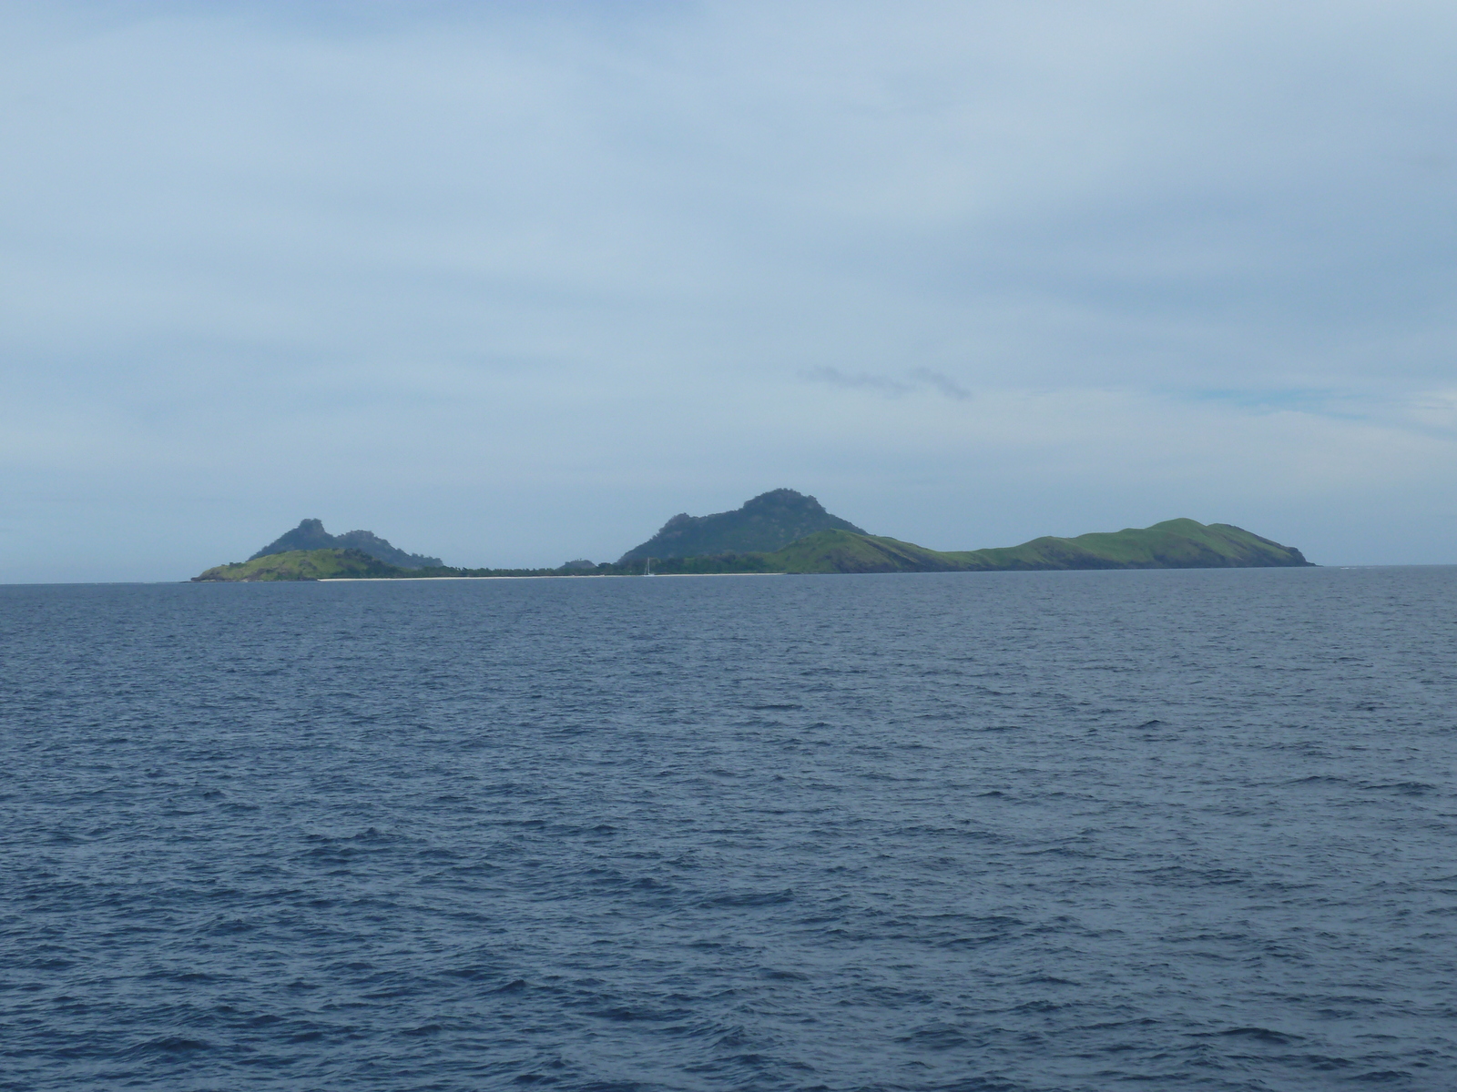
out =
{"type": "Polygon", "coordinates": [[[305,520],[243,562],[194,581],[402,579],[444,577],[634,577],[711,574],[1008,572],[1037,569],[1220,569],[1310,565],[1294,546],[1227,523],[1166,520],[1152,527],[1045,536],[1020,546],[931,550],[870,534],[813,496],[772,489],[740,508],[675,515],[615,562],[554,569],[469,569],[407,553],[373,531],[329,534],[305,520]]]}

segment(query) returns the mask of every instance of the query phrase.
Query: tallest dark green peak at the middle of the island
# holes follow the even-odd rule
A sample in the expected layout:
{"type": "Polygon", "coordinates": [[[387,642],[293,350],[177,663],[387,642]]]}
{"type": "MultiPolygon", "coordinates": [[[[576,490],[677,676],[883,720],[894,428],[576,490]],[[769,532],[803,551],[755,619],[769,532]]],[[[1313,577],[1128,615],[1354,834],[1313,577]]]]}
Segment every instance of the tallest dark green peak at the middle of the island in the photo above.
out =
{"type": "MultiPolygon", "coordinates": [[[[848,520],[830,515],[813,496],[794,489],[771,489],[731,513],[689,515],[682,513],[663,530],[618,559],[618,565],[657,558],[723,558],[742,553],[771,553],[814,531],[864,531],[848,520]]],[[[667,572],[667,569],[663,569],[667,572]]]]}

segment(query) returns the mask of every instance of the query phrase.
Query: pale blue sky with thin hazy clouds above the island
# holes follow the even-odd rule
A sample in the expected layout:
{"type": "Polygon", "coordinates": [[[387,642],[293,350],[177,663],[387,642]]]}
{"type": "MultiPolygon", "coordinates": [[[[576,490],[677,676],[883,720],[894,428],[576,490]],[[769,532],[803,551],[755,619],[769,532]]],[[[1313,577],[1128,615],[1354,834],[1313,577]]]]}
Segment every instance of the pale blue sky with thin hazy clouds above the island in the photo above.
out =
{"type": "Polygon", "coordinates": [[[0,3],[0,582],[816,495],[1457,562],[1457,7],[0,3]]]}

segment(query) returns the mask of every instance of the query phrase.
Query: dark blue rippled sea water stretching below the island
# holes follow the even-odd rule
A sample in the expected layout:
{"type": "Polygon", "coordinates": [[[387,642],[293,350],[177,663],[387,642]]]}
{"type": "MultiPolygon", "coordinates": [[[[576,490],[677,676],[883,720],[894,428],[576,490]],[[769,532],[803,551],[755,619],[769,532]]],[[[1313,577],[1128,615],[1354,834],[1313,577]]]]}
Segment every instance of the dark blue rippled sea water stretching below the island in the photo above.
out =
{"type": "Polygon", "coordinates": [[[1445,1092],[1454,609],[4,587],[0,1088],[1445,1092]]]}

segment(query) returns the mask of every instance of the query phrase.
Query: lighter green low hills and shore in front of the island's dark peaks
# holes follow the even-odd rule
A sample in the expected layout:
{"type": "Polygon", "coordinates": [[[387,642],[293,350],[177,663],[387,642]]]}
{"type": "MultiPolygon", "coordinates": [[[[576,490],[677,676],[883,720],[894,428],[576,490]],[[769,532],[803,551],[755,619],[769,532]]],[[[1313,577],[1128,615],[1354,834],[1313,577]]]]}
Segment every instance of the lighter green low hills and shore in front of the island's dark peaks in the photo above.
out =
{"type": "MultiPolygon", "coordinates": [[[[797,495],[797,494],[796,494],[797,495]]],[[[813,498],[810,498],[813,499],[813,498]]],[[[747,505],[746,505],[747,507],[747,505]]],[[[634,553],[635,550],[629,552],[634,553]]],[[[402,579],[444,577],[629,577],[657,575],[854,574],[854,572],[1013,572],[1046,569],[1193,569],[1304,566],[1292,546],[1262,539],[1227,523],[1166,520],[1152,527],[1045,536],[1020,546],[931,550],[879,534],[816,530],[775,550],[717,555],[624,558],[593,565],[573,561],[555,569],[468,569],[447,565],[404,568],[356,549],[290,550],[219,565],[194,581],[402,579]]]]}

